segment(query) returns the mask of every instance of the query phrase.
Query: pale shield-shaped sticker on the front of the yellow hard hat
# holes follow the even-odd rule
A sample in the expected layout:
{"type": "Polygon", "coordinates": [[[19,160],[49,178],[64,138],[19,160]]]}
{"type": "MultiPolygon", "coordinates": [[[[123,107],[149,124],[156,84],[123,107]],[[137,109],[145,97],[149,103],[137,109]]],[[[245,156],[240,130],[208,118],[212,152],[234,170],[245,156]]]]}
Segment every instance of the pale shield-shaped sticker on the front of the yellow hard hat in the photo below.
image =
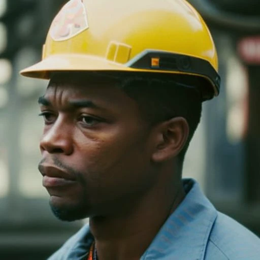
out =
{"type": "Polygon", "coordinates": [[[88,28],[83,0],[70,0],[54,18],[50,36],[54,41],[65,41],[88,28]]]}

